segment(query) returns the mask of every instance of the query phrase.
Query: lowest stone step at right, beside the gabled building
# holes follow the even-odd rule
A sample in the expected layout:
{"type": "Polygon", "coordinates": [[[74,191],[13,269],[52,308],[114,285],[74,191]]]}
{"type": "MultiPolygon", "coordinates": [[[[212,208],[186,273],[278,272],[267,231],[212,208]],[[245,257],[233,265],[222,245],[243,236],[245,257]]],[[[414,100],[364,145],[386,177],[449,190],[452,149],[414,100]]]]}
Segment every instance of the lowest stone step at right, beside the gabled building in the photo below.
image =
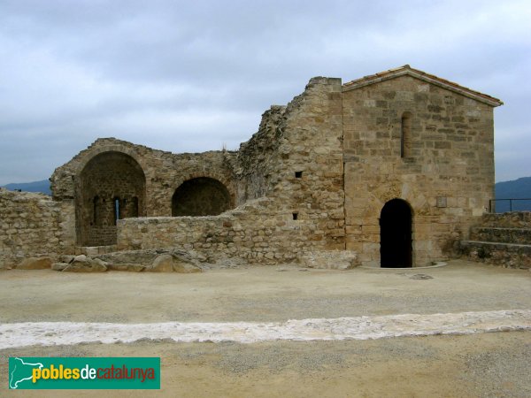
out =
{"type": "Polygon", "coordinates": [[[473,261],[503,265],[506,268],[531,268],[531,244],[493,241],[461,241],[461,253],[473,261]]]}

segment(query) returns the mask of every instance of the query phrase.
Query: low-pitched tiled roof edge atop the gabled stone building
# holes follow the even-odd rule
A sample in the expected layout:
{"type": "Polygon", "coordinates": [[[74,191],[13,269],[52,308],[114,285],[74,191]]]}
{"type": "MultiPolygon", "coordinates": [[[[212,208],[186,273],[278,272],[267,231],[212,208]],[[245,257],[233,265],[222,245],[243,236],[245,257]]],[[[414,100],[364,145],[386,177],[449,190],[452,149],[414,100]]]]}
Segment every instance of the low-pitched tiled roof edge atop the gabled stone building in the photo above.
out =
{"type": "Polygon", "coordinates": [[[352,80],[348,83],[343,84],[343,91],[349,91],[351,89],[360,88],[369,86],[374,83],[379,83],[384,80],[395,79],[398,76],[412,76],[413,78],[424,80],[427,83],[435,84],[442,88],[446,88],[450,91],[454,91],[463,96],[473,98],[476,101],[481,103],[487,103],[490,106],[500,106],[504,103],[494,96],[488,96],[486,94],[480,93],[479,91],[474,91],[473,89],[459,86],[458,83],[453,81],[441,79],[440,77],[435,76],[434,74],[429,74],[426,72],[419,71],[419,69],[414,69],[410,65],[400,66],[395,69],[389,69],[389,71],[375,73],[370,76],[365,76],[361,79],[352,80]]]}

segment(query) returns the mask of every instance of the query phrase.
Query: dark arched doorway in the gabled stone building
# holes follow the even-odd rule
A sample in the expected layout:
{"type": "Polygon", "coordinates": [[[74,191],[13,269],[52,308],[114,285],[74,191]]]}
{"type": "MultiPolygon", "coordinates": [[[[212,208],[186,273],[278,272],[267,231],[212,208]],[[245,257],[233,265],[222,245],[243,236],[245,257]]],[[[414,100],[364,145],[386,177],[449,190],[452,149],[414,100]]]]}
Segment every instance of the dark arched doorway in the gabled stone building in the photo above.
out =
{"type": "Polygon", "coordinates": [[[412,209],[402,199],[385,203],[380,215],[382,268],[412,266],[412,209]]]}

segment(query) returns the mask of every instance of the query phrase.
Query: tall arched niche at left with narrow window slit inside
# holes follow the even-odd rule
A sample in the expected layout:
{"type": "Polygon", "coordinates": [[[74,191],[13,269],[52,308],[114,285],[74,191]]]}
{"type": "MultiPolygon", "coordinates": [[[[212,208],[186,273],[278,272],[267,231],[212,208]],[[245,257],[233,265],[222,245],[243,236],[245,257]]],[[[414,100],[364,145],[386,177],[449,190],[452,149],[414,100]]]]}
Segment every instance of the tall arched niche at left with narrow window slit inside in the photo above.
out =
{"type": "Polygon", "coordinates": [[[145,216],[146,178],[136,160],[103,152],[89,160],[76,187],[76,229],[81,246],[116,244],[121,218],[145,216]]]}

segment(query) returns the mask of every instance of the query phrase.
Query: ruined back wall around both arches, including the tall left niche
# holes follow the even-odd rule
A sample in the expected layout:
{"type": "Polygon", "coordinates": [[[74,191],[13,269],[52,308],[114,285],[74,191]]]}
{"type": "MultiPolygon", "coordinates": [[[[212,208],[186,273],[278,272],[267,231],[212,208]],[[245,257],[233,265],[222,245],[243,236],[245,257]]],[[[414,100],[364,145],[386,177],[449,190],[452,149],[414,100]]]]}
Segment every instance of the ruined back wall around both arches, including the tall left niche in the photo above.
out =
{"type": "Polygon", "coordinates": [[[117,197],[120,218],[135,217],[135,212],[139,217],[172,216],[173,195],[183,183],[211,178],[227,188],[228,206],[234,207],[232,157],[235,154],[228,151],[173,154],[114,138],[98,139],[56,169],[50,178],[52,196],[57,201],[75,200],[79,246],[113,245],[117,197]]]}

